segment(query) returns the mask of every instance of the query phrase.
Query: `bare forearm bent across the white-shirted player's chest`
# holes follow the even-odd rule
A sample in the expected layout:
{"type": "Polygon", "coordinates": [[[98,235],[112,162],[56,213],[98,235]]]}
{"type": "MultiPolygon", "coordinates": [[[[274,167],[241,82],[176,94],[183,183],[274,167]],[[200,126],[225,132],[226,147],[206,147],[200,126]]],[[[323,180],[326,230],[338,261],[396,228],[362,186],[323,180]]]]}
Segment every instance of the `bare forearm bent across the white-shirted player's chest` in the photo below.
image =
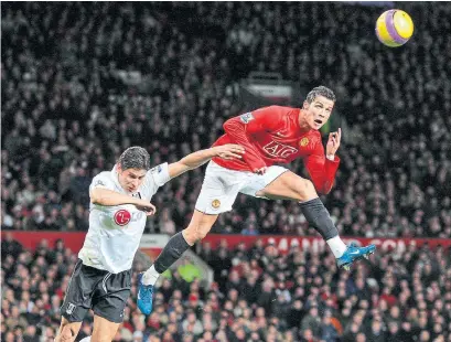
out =
{"type": "Polygon", "coordinates": [[[132,204],[136,205],[140,211],[143,211],[149,215],[157,212],[154,205],[148,201],[136,199],[105,188],[94,188],[89,192],[89,196],[90,202],[98,205],[112,206],[121,204],[132,204]]]}

